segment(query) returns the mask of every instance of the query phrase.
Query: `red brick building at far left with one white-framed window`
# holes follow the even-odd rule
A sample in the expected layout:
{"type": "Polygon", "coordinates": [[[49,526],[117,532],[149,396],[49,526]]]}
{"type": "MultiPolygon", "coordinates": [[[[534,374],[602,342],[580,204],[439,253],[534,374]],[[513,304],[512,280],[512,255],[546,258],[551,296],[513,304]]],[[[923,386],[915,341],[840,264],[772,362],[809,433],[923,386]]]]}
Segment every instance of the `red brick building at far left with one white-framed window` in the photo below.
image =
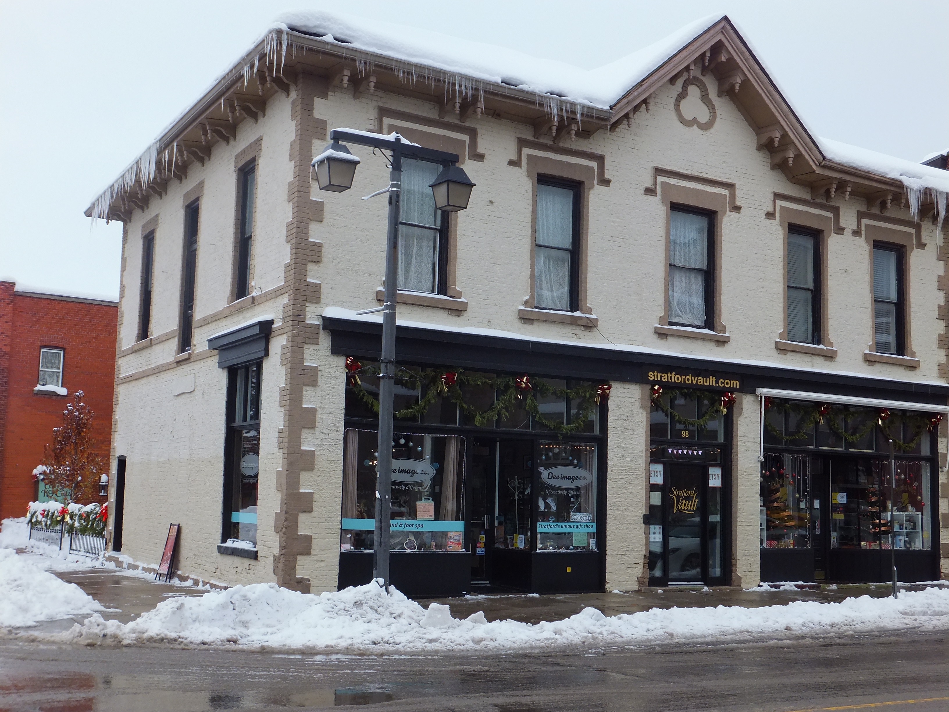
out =
{"type": "Polygon", "coordinates": [[[78,390],[108,459],[117,319],[116,302],[0,281],[0,519],[25,515],[36,499],[33,468],[78,390]]]}

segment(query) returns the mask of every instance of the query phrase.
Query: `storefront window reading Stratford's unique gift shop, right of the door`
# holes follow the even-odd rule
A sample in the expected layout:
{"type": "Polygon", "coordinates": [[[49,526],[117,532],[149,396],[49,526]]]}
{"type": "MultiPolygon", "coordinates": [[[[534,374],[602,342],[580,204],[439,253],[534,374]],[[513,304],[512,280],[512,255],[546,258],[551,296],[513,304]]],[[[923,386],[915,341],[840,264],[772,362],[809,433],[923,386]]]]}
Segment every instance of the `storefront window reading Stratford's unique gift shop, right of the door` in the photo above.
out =
{"type": "Polygon", "coordinates": [[[537,551],[596,551],[596,445],[538,443],[537,551]]]}

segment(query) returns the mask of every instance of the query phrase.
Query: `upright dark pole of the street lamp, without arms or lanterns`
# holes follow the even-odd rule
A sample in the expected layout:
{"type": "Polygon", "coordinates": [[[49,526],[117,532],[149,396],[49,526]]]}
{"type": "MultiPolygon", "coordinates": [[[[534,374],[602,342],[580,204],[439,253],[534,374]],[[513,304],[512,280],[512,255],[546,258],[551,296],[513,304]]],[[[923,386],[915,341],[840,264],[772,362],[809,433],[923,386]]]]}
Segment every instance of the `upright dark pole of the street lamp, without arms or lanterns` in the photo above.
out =
{"type": "Polygon", "coordinates": [[[372,576],[389,590],[389,520],[392,514],[392,417],[396,378],[396,287],[399,267],[399,200],[402,180],[400,139],[389,173],[389,227],[385,244],[385,302],[382,304],[382,357],[379,378],[379,444],[376,465],[376,535],[372,576]]]}

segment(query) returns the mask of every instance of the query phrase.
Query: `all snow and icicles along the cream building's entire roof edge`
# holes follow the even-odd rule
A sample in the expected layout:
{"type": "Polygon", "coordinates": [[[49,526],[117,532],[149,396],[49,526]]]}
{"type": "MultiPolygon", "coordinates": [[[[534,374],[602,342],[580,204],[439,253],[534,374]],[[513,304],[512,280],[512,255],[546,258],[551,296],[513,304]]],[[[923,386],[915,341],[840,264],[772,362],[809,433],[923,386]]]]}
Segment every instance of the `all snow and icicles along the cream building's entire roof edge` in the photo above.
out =
{"type": "MultiPolygon", "coordinates": [[[[438,81],[454,85],[459,95],[468,96],[474,93],[475,88],[489,88],[492,84],[495,88],[515,87],[534,94],[550,115],[569,110],[580,117],[585,114],[585,109],[587,113],[611,111],[630,89],[647,80],[681,49],[722,20],[734,27],[727,16],[709,15],[615,62],[586,70],[565,62],[532,57],[507,47],[496,47],[374,18],[355,17],[325,9],[285,12],[254,44],[253,47],[258,49],[251,47],[236,65],[218,77],[202,98],[206,98],[217,84],[228,77],[239,78],[243,75],[247,81],[253,76],[261,61],[259,47],[263,47],[268,62],[282,66],[288,58],[288,49],[292,47],[290,54],[295,53],[300,35],[307,35],[318,37],[323,46],[338,48],[344,58],[356,58],[357,63],[371,63],[373,58],[388,58],[407,65],[408,68],[404,69],[405,78],[412,83],[419,80],[438,81]],[[363,53],[362,56],[360,53],[363,53]]],[[[760,58],[754,58],[760,64],[760,58]]],[[[399,70],[400,76],[402,71],[399,70]]],[[[773,83],[770,75],[768,78],[773,83]]],[[[783,96],[779,101],[787,103],[783,96]]],[[[167,165],[169,156],[159,156],[159,152],[169,153],[170,143],[177,140],[171,134],[187,114],[186,111],[179,115],[158,140],[95,199],[87,215],[107,216],[115,197],[127,192],[136,181],[148,182],[152,179],[159,159],[163,159],[167,165]]],[[[799,121],[796,117],[795,120],[799,121]]],[[[807,131],[806,128],[804,130],[807,131]]],[[[941,224],[949,195],[949,175],[945,171],[848,146],[839,141],[821,139],[817,144],[825,158],[833,162],[902,181],[910,198],[913,215],[918,215],[922,202],[932,199],[941,224]]]]}

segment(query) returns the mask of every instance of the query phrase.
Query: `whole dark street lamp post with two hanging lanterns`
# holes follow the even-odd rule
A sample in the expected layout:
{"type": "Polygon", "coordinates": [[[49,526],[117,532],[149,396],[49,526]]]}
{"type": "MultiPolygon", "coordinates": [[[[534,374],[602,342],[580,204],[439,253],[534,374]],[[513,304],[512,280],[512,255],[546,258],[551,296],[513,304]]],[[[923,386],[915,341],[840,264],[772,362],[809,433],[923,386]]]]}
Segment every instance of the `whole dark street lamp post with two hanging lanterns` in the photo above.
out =
{"type": "Polygon", "coordinates": [[[357,143],[392,152],[389,185],[379,193],[389,194],[389,218],[385,242],[385,297],[381,308],[366,309],[359,313],[382,312],[381,374],[379,380],[379,442],[376,464],[376,522],[373,539],[374,579],[381,579],[389,589],[389,555],[392,512],[392,430],[393,392],[396,379],[396,294],[399,268],[399,225],[402,180],[402,159],[421,159],[437,162],[442,171],[430,185],[437,210],[456,212],[468,207],[474,183],[456,165],[454,153],[424,148],[402,141],[399,134],[383,136],[352,129],[333,129],[332,141],[322,154],[313,159],[320,190],[342,193],[352,187],[353,176],[360,159],[353,156],[344,143],[357,143]]]}

